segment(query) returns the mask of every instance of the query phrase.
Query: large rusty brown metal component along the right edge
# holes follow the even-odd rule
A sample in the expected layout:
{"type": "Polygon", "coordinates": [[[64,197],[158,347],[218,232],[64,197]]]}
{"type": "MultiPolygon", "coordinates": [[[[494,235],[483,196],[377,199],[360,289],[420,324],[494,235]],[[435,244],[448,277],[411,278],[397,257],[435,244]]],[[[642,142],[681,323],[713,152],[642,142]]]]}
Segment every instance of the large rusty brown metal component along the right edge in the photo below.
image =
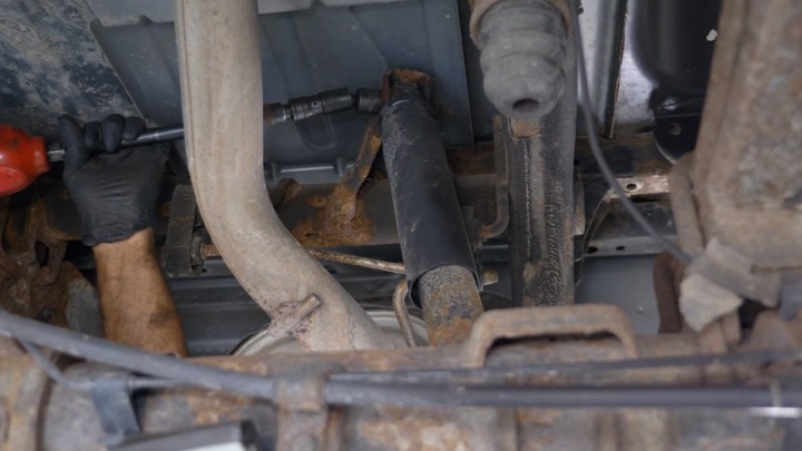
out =
{"type": "Polygon", "coordinates": [[[776,306],[783,273],[802,267],[802,7],[726,2],[718,36],[696,151],[677,161],[671,187],[693,257],[679,310],[727,347],[744,300],[776,306]]]}

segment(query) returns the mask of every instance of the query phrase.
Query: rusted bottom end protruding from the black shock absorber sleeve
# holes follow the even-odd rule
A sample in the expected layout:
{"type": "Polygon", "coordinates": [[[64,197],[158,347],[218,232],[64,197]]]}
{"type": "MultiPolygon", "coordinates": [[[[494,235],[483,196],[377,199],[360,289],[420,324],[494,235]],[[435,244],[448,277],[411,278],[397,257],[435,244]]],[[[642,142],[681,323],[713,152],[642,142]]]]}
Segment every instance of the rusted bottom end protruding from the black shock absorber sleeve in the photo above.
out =
{"type": "Polygon", "coordinates": [[[429,343],[457,344],[470,334],[483,308],[473,274],[461,266],[440,266],[424,273],[418,290],[429,343]]]}

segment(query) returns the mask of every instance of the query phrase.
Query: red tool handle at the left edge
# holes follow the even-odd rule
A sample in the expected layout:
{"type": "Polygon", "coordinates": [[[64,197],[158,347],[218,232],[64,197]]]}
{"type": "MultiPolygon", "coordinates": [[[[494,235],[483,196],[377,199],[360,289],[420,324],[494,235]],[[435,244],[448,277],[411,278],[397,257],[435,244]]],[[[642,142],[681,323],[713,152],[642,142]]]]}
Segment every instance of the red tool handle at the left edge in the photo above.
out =
{"type": "Polygon", "coordinates": [[[43,138],[0,125],[0,196],[21,192],[48,170],[43,138]]]}

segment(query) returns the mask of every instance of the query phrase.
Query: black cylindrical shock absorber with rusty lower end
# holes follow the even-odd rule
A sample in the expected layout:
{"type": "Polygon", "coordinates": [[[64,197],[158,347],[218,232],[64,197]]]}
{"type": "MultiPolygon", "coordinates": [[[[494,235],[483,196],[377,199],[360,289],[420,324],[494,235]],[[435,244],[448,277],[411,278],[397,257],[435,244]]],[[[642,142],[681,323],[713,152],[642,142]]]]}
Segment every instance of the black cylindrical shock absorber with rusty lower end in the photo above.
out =
{"type": "Polygon", "coordinates": [[[415,85],[394,91],[382,144],[407,278],[429,342],[459,343],[482,313],[468,233],[434,118],[415,85]]]}

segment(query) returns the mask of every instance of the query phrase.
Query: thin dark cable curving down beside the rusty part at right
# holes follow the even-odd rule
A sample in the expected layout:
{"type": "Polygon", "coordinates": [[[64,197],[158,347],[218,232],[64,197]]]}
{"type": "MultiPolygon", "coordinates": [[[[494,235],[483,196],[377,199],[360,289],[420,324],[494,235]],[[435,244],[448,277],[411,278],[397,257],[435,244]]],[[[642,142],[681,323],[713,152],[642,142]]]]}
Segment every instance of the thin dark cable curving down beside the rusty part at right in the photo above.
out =
{"type": "Polygon", "coordinates": [[[643,227],[643,229],[649,234],[659,245],[672,254],[676,259],[687,265],[691,263],[691,256],[684,253],[682,249],[669,243],[663,235],[657,232],[652,224],[638,212],[635,204],[629,199],[624,188],[620,186],[618,180],[613,174],[607,164],[607,159],[602,151],[602,145],[599,144],[598,136],[596,136],[596,124],[593,117],[593,109],[590,108],[590,89],[588,88],[587,81],[587,67],[585,66],[585,50],[583,49],[581,31],[579,30],[579,14],[577,12],[576,2],[569,1],[571,8],[571,16],[574,19],[574,45],[576,46],[577,52],[577,69],[579,70],[579,87],[580,87],[580,106],[583,116],[585,117],[585,128],[587,128],[588,141],[590,144],[590,153],[596,159],[596,164],[602,171],[602,175],[609,184],[613,192],[618,196],[624,208],[627,210],[629,216],[635,219],[636,223],[643,227]]]}

